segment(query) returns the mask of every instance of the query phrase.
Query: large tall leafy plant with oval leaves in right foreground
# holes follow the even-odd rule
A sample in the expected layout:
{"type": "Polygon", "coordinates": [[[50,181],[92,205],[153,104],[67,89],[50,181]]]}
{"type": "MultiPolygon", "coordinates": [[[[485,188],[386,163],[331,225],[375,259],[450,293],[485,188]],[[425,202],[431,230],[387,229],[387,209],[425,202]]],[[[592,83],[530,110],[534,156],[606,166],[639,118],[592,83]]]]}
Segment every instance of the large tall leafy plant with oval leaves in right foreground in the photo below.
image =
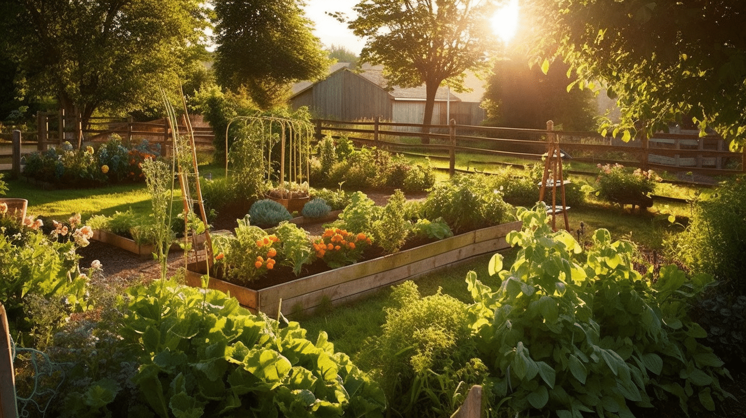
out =
{"type": "MultiPolygon", "coordinates": [[[[651,407],[674,396],[715,409],[713,396],[728,375],[706,337],[689,319],[690,301],[710,278],[675,266],[642,277],[632,267],[633,246],[594,234],[582,247],[567,231],[551,231],[543,208],[518,209],[522,231],[507,236],[520,246],[510,270],[501,256],[490,272],[503,280],[494,291],[474,273],[467,278],[480,358],[489,366],[492,396],[518,411],[556,411],[559,417],[595,412],[631,417],[627,402],[651,407]]],[[[652,270],[652,269],[651,269],[652,270]]]]}

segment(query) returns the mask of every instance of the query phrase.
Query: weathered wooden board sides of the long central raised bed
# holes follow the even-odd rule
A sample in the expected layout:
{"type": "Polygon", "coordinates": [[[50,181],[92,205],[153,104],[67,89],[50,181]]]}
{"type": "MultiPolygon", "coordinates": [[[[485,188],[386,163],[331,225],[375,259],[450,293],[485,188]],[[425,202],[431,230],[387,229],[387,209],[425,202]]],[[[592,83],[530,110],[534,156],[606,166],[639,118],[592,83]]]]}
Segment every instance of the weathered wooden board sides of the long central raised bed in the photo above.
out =
{"type": "MultiPolygon", "coordinates": [[[[284,315],[298,314],[313,311],[322,303],[339,305],[351,302],[374,293],[380,287],[419,277],[475,255],[507,249],[510,246],[505,236],[520,228],[520,221],[483,228],[262,290],[249,289],[217,278],[210,278],[207,287],[230,293],[241,305],[254,312],[262,311],[269,316],[276,316],[278,310],[284,315]]],[[[186,283],[201,287],[202,274],[196,270],[195,263],[189,264],[186,283]]]]}

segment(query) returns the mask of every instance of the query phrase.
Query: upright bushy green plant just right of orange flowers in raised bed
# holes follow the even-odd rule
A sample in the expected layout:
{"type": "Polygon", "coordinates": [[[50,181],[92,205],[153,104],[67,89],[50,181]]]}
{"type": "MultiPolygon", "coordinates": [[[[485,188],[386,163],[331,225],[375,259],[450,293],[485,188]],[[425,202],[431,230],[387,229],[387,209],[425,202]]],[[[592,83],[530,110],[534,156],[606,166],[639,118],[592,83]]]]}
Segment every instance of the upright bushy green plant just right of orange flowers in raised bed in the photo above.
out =
{"type": "Polygon", "coordinates": [[[386,254],[397,252],[407,241],[412,230],[412,222],[404,215],[407,198],[401,190],[396,190],[383,208],[380,219],[373,222],[373,237],[386,254]]]}

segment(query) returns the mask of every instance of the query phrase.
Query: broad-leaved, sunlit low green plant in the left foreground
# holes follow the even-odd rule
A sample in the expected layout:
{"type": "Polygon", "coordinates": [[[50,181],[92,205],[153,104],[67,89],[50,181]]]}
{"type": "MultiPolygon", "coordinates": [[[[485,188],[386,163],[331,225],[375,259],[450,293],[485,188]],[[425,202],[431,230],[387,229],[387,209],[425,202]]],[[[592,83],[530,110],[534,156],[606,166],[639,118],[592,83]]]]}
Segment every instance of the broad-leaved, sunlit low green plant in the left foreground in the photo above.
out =
{"type": "MultiPolygon", "coordinates": [[[[216,290],[167,281],[134,287],[123,310],[118,354],[132,364],[129,388],[111,378],[81,381],[66,416],[383,417],[379,387],[322,334],[240,308],[216,290]]],[[[125,360],[122,362],[122,358],[125,360]]]]}

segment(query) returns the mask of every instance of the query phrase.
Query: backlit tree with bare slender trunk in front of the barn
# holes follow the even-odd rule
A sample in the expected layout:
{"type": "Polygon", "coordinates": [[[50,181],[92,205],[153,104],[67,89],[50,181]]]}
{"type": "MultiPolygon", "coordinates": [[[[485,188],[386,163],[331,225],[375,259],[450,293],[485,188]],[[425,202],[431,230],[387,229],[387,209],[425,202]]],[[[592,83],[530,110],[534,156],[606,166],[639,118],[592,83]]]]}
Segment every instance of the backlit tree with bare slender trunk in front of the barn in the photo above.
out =
{"type": "Polygon", "coordinates": [[[487,55],[500,45],[487,24],[495,1],[366,0],[354,10],[349,27],[366,38],[360,60],[383,64],[392,86],[424,83],[424,125],[432,120],[438,87],[445,82],[463,91],[464,72],[485,69],[487,55]]]}

